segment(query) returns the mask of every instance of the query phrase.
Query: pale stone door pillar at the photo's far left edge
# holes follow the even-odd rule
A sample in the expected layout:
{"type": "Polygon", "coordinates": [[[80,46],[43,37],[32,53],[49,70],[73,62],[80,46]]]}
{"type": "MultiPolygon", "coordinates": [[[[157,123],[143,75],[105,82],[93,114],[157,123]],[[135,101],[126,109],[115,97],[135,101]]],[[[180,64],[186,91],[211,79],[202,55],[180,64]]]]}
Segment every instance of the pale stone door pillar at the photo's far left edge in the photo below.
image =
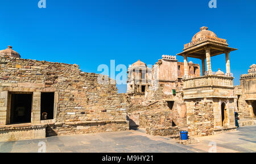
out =
{"type": "Polygon", "coordinates": [[[5,125],[7,120],[7,98],[8,92],[0,92],[0,125],[5,125]]]}

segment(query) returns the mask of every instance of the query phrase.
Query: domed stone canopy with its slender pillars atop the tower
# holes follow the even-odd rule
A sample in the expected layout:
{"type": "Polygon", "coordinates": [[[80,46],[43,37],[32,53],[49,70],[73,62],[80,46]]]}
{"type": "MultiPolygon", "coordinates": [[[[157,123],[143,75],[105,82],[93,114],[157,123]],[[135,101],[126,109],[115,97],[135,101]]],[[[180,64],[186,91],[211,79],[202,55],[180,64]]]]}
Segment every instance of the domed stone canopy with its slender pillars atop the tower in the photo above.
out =
{"type": "Polygon", "coordinates": [[[230,48],[227,41],[222,38],[218,38],[217,35],[208,30],[208,27],[201,27],[200,32],[197,32],[191,42],[184,45],[181,55],[184,57],[184,76],[188,76],[187,70],[187,57],[198,58],[202,61],[202,73],[203,75],[211,75],[212,67],[210,58],[216,55],[225,54],[226,57],[226,75],[230,76],[230,61],[229,53],[237,49],[230,48]],[[205,59],[207,61],[207,72],[205,72],[205,59]]]}

